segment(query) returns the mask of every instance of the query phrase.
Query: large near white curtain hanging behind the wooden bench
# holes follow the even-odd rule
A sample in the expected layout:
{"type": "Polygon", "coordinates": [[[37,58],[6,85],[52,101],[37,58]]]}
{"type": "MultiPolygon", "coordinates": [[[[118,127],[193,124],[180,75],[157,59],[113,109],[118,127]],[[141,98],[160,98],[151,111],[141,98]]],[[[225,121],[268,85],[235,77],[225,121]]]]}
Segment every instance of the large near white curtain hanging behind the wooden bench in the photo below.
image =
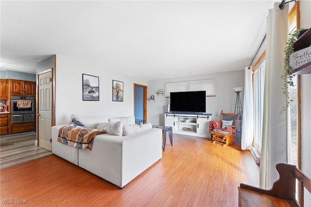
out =
{"type": "Polygon", "coordinates": [[[286,113],[280,113],[286,103],[282,93],[280,74],[284,48],[288,37],[288,4],[283,10],[279,3],[269,10],[267,17],[266,69],[263,98],[263,126],[260,158],[260,188],[269,190],[278,179],[277,163],[287,163],[288,146],[286,113]]]}

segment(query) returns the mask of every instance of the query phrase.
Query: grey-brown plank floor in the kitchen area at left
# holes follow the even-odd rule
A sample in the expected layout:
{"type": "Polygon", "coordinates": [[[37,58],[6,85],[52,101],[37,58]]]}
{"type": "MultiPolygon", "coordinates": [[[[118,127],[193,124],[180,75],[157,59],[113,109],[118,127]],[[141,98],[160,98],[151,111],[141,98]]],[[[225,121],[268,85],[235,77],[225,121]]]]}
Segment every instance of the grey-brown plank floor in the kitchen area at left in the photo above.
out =
{"type": "Polygon", "coordinates": [[[35,132],[0,138],[0,169],[52,155],[52,152],[35,146],[35,132]]]}

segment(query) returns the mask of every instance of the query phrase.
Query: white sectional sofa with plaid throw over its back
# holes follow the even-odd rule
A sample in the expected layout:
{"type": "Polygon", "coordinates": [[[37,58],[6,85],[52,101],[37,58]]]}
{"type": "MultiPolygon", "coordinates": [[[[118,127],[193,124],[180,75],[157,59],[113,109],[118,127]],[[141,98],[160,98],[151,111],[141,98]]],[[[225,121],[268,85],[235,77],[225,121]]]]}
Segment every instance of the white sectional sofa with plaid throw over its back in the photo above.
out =
{"type": "MultiPolygon", "coordinates": [[[[74,116],[71,116],[70,120],[74,116]]],[[[134,126],[135,119],[134,124],[132,119],[128,121],[126,117],[109,120],[118,121],[118,119],[122,120],[124,130],[126,127],[137,128],[134,126]]],[[[94,126],[94,123],[106,123],[108,118],[80,118],[79,121],[89,127],[94,126]]],[[[157,128],[148,128],[132,134],[127,130],[129,135],[126,136],[99,134],[94,138],[92,150],[89,150],[77,149],[58,142],[58,132],[62,126],[52,127],[52,153],[120,188],[162,158],[162,131],[157,128]]]]}

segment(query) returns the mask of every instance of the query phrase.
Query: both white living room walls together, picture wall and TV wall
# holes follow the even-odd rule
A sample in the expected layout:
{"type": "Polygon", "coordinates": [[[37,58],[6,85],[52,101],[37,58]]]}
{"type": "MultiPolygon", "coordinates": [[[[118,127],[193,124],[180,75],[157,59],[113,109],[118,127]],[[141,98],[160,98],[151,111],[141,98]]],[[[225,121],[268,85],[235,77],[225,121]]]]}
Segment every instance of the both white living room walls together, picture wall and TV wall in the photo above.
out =
{"type": "MultiPolygon", "coordinates": [[[[133,76],[92,66],[90,63],[76,61],[57,55],[56,57],[56,95],[55,95],[55,123],[67,124],[70,115],[76,113],[82,117],[92,116],[129,116],[134,114],[134,86],[141,84],[148,86],[148,97],[155,96],[155,102],[147,102],[148,122],[164,125],[164,113],[169,98],[155,93],[164,89],[165,83],[179,81],[194,81],[216,79],[216,97],[207,97],[207,113],[212,113],[212,120],[219,119],[221,110],[234,112],[236,93],[233,87],[244,85],[244,70],[224,73],[213,73],[203,76],[145,81],[133,76]],[[94,75],[100,81],[100,101],[82,101],[82,74],[94,75]],[[112,101],[112,80],[123,82],[123,102],[112,101]]],[[[240,94],[243,101],[243,91],[240,94]]]]}

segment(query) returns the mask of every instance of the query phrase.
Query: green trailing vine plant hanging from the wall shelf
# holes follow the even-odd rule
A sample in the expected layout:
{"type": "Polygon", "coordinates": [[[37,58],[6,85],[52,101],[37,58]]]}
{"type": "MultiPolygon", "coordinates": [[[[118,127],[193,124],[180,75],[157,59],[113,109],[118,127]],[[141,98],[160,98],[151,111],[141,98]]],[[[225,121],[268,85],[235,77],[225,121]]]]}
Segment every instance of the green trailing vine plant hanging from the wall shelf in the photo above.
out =
{"type": "Polygon", "coordinates": [[[289,37],[286,43],[287,46],[284,51],[285,52],[284,67],[283,67],[283,71],[281,74],[281,79],[282,79],[282,84],[283,84],[282,90],[286,98],[286,104],[285,106],[282,106],[281,113],[286,111],[286,109],[290,106],[291,102],[293,102],[293,100],[291,100],[290,93],[288,91],[289,86],[294,86],[294,82],[293,82],[294,76],[289,75],[289,73],[293,71],[293,67],[290,65],[290,55],[294,52],[293,45],[295,41],[297,40],[297,36],[302,30],[305,30],[305,29],[300,28],[294,31],[292,34],[289,34],[289,37]]]}

